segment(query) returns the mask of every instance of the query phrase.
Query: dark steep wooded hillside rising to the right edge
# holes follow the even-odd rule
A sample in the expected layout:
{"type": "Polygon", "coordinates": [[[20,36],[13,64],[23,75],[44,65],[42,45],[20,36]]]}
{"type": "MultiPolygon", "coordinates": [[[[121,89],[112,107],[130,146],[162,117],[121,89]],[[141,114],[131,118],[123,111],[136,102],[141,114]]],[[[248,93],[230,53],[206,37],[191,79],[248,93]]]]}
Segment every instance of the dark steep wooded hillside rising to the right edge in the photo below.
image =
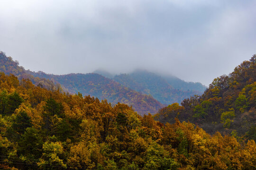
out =
{"type": "Polygon", "coordinates": [[[174,118],[189,120],[208,133],[242,136],[256,140],[256,55],[244,61],[232,73],[219,76],[201,96],[173,103],[155,115],[160,122],[174,118]]]}

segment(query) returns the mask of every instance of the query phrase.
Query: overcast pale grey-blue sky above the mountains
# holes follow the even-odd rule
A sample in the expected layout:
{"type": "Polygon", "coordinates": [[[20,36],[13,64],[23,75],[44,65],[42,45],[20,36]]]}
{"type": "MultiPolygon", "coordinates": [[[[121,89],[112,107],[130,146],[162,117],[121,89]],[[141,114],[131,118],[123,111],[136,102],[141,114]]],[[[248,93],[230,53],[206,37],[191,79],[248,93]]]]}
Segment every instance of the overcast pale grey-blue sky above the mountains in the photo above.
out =
{"type": "Polygon", "coordinates": [[[0,0],[0,51],[31,71],[146,69],[209,85],[256,53],[256,0],[0,0]]]}

